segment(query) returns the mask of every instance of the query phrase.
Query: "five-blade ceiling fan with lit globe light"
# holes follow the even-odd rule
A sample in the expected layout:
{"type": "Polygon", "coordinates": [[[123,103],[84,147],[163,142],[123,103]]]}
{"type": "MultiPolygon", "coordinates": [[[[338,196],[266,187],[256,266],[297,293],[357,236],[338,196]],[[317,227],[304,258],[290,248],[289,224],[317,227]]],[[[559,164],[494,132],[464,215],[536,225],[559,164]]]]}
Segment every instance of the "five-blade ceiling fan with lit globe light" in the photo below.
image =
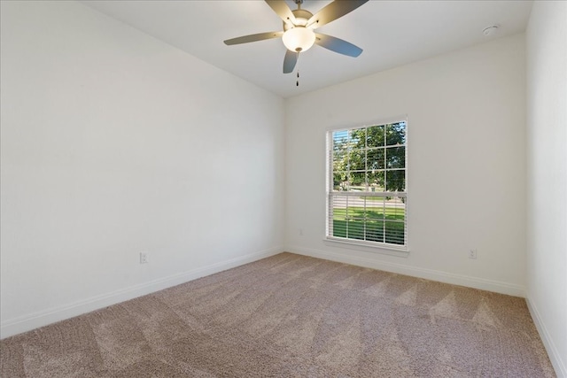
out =
{"type": "Polygon", "coordinates": [[[291,73],[297,64],[299,52],[311,48],[314,43],[325,49],[338,52],[349,57],[358,57],[362,49],[353,43],[342,39],[315,33],[317,27],[343,17],[349,12],[369,0],[335,0],[324,6],[315,15],[305,9],[301,9],[303,0],[294,0],[298,9],[291,11],[290,7],[282,0],[265,0],[266,3],[283,20],[283,31],[259,33],[256,35],[244,35],[224,41],[227,45],[263,41],[267,39],[282,37],[283,44],[287,48],[283,58],[283,73],[291,73]]]}

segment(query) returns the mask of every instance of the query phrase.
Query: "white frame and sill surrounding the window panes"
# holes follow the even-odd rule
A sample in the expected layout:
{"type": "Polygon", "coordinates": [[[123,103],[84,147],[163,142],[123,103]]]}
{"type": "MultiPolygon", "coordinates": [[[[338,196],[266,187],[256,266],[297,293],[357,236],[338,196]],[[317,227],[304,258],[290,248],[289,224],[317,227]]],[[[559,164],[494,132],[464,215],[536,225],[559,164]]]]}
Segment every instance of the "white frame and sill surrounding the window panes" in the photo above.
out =
{"type": "MultiPolygon", "coordinates": [[[[384,146],[385,147],[385,146],[384,146]]],[[[371,251],[387,255],[408,257],[408,117],[400,116],[388,120],[380,120],[364,125],[356,125],[352,127],[333,127],[326,130],[326,213],[325,213],[325,238],[324,242],[331,246],[342,246],[358,251],[371,251]],[[405,123],[405,191],[403,192],[372,192],[372,191],[334,191],[333,190],[333,133],[338,131],[346,131],[352,129],[360,129],[364,127],[381,126],[392,123],[405,123]],[[404,244],[382,243],[375,241],[360,240],[348,237],[333,236],[333,198],[334,197],[404,197],[405,198],[405,216],[404,216],[404,244]]],[[[367,168],[368,172],[368,168],[367,168]]]]}

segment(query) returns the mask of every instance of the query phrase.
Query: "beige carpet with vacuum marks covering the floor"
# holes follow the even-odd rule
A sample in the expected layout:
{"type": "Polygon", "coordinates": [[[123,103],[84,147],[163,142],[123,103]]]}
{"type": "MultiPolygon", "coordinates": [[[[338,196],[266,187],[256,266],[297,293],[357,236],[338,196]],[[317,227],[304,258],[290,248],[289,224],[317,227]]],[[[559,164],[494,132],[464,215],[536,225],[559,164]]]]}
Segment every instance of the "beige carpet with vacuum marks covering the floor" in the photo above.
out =
{"type": "Polygon", "coordinates": [[[2,377],[552,377],[525,301],[283,253],[0,342],[2,377]]]}

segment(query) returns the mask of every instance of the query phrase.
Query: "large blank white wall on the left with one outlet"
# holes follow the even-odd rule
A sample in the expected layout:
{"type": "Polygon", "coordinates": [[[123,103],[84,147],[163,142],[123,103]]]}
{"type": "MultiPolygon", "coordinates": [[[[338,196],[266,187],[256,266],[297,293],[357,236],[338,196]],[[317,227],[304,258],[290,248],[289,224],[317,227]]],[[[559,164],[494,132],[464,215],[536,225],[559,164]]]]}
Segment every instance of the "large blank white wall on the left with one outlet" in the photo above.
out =
{"type": "Polygon", "coordinates": [[[82,4],[1,13],[3,337],[282,251],[282,98],[82,4]]]}

